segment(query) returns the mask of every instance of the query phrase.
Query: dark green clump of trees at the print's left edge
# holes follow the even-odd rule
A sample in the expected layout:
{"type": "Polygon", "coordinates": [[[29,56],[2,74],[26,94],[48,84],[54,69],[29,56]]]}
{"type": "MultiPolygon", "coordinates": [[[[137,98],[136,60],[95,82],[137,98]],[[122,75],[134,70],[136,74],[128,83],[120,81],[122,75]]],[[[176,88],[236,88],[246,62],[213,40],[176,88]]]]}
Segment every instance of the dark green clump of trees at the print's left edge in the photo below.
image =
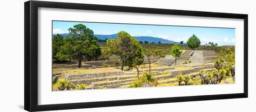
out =
{"type": "Polygon", "coordinates": [[[101,55],[101,48],[97,44],[97,37],[94,37],[94,32],[88,27],[78,24],[74,28],[68,29],[72,37],[66,37],[64,43],[61,43],[61,37],[56,35],[54,37],[53,46],[59,46],[59,50],[54,50],[53,56],[59,60],[77,59],[79,61],[78,67],[81,67],[81,60],[85,57],[88,60],[95,59],[101,55]],[[57,41],[57,42],[55,42],[57,41]],[[55,51],[57,53],[55,54],[55,51]]]}

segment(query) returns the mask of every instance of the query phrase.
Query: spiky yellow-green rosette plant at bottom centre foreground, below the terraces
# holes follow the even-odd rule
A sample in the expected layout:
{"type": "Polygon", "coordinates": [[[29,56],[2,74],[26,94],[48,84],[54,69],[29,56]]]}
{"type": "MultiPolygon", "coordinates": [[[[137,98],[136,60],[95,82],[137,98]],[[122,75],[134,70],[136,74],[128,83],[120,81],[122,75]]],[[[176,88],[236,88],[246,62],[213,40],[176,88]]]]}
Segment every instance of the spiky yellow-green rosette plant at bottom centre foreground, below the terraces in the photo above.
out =
{"type": "Polygon", "coordinates": [[[148,74],[147,72],[142,72],[141,83],[143,87],[154,86],[155,78],[153,74],[148,74]]]}

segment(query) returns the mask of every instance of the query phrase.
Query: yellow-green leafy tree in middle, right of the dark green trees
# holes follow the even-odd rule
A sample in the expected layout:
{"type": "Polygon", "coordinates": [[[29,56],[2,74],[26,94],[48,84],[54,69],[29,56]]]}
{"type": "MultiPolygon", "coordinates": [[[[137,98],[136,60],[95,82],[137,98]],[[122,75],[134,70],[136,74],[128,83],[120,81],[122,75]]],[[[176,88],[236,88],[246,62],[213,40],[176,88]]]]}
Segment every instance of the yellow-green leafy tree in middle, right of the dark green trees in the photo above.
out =
{"type": "Polygon", "coordinates": [[[135,66],[140,65],[141,60],[143,61],[144,54],[139,41],[127,32],[117,33],[117,38],[108,40],[107,46],[111,49],[112,54],[121,57],[121,70],[123,70],[125,64],[135,66]]]}

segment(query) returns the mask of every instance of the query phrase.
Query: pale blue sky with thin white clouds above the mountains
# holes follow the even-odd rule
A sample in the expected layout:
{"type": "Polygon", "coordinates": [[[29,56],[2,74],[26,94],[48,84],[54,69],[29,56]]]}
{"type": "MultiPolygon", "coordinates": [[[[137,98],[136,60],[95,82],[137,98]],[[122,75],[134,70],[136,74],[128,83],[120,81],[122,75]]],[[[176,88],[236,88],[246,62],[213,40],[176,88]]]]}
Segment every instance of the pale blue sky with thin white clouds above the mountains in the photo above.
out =
{"type": "Polygon", "coordinates": [[[53,21],[53,33],[68,33],[67,29],[77,24],[83,24],[94,31],[94,34],[115,34],[126,31],[132,36],[152,36],[176,42],[187,42],[195,34],[205,45],[209,41],[222,45],[235,45],[234,28],[210,28],[189,26],[156,26],[135,24],[113,24],[92,22],[53,21]]]}

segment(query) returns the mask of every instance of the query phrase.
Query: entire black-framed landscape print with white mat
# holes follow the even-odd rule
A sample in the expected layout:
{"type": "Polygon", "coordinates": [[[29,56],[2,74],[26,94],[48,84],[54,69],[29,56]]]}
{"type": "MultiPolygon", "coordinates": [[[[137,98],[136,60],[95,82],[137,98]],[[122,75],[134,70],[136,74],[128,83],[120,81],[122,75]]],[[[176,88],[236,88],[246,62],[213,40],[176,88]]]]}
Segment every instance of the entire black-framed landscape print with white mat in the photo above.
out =
{"type": "Polygon", "coordinates": [[[248,15],[25,2],[25,110],[248,97],[248,15]]]}

